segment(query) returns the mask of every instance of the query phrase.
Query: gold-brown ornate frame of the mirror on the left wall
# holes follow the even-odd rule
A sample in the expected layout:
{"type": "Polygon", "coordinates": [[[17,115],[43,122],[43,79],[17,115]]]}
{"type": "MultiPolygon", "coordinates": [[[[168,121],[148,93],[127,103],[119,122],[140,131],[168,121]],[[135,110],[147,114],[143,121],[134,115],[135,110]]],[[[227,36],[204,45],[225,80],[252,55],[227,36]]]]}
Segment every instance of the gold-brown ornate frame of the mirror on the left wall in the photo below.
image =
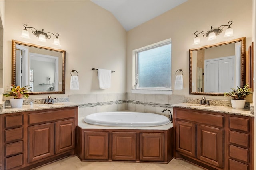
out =
{"type": "Polygon", "coordinates": [[[17,44],[62,53],[62,61],[63,61],[62,62],[62,91],[30,92],[28,94],[65,94],[66,51],[61,50],[61,49],[53,49],[53,48],[50,48],[50,47],[43,47],[43,46],[36,45],[36,44],[24,43],[24,42],[16,41],[16,40],[12,40],[12,84],[16,84],[16,45],[17,44]]]}

